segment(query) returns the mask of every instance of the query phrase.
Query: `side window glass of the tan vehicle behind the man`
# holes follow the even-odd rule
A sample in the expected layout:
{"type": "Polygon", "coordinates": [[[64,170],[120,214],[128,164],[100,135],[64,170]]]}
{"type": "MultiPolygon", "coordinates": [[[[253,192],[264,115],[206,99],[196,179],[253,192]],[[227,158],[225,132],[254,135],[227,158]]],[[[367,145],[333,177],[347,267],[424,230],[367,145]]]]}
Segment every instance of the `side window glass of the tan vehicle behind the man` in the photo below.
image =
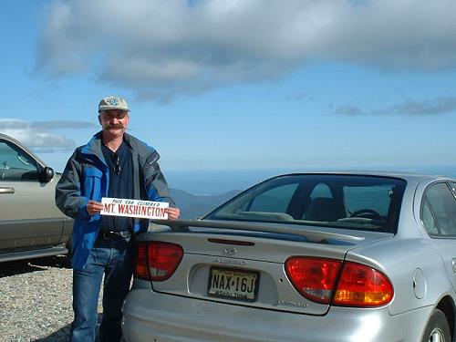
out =
{"type": "Polygon", "coordinates": [[[37,179],[36,161],[26,152],[5,140],[0,140],[0,181],[37,179]]]}

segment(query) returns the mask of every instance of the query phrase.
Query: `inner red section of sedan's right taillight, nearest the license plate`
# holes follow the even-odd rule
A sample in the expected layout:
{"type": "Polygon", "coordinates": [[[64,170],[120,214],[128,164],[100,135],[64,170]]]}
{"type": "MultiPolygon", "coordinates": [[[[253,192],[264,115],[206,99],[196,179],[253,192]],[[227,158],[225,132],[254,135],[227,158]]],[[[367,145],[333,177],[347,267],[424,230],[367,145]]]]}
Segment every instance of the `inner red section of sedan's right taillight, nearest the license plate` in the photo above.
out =
{"type": "Polygon", "coordinates": [[[285,272],[297,292],[314,302],[329,304],[341,262],[333,259],[292,256],[285,272]]]}

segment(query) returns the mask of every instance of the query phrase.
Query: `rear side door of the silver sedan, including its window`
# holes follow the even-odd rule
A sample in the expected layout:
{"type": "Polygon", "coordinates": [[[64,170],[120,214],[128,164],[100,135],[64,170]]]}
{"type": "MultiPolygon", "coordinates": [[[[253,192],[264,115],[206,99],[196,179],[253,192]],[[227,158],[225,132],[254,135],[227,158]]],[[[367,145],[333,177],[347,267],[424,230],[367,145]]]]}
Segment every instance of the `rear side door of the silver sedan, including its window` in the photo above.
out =
{"type": "Polygon", "coordinates": [[[439,251],[456,290],[456,192],[454,183],[431,184],[421,204],[421,222],[439,251]]]}

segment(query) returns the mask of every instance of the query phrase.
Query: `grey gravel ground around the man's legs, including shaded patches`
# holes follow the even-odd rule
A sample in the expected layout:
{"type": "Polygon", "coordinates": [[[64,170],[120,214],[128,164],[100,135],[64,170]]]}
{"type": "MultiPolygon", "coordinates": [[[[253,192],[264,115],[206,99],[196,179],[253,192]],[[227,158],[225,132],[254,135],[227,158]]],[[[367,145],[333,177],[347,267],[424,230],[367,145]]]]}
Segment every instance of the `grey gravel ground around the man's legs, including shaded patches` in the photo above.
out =
{"type": "Polygon", "coordinates": [[[0,341],[67,341],[71,283],[65,256],[0,263],[0,341]]]}

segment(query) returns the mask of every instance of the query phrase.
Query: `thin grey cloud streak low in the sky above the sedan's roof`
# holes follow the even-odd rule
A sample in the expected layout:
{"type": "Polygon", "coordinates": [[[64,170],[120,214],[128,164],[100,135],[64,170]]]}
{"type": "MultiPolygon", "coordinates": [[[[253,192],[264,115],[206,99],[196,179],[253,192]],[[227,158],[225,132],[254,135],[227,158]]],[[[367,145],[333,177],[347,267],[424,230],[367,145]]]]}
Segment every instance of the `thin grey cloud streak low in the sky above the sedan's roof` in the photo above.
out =
{"type": "Polygon", "coordinates": [[[334,109],[334,113],[342,115],[408,115],[435,116],[456,112],[456,96],[434,98],[426,101],[405,101],[381,109],[361,109],[356,105],[347,104],[334,109]]]}

